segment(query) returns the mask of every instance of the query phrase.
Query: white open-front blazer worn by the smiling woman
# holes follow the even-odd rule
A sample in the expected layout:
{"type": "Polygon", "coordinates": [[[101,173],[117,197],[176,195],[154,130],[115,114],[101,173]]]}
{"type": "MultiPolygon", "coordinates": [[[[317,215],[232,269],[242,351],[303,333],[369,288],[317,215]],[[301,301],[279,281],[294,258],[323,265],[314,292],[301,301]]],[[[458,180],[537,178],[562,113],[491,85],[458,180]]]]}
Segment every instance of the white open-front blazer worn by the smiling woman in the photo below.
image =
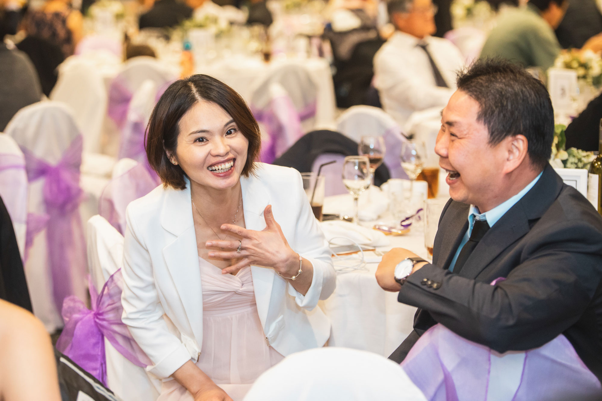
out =
{"type": "MultiPolygon", "coordinates": [[[[268,204],[288,244],[314,267],[303,296],[274,269],[252,266],[259,320],[266,341],[284,356],[323,346],[330,321],[318,300],[335,289],[328,244],[312,214],[297,170],[258,163],[256,176],[241,177],[244,223],[265,228],[268,204]]],[[[123,323],[154,365],[167,378],[203,343],[203,294],[192,216],[190,185],[185,190],[155,188],[129,204],[123,252],[123,323]]]]}

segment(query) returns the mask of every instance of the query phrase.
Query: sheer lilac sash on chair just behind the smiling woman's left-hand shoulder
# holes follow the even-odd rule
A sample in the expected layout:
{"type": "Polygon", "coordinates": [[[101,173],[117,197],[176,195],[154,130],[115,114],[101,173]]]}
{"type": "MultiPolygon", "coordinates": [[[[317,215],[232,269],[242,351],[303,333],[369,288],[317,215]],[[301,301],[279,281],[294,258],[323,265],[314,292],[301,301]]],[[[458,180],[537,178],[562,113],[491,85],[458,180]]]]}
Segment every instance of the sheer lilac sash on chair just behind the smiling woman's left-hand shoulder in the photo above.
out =
{"type": "Polygon", "coordinates": [[[98,202],[98,214],[107,219],[123,235],[125,209],[129,202],[143,197],[159,184],[157,174],[151,175],[144,164],[138,163],[137,166],[111,179],[107,184],[98,202]]]}

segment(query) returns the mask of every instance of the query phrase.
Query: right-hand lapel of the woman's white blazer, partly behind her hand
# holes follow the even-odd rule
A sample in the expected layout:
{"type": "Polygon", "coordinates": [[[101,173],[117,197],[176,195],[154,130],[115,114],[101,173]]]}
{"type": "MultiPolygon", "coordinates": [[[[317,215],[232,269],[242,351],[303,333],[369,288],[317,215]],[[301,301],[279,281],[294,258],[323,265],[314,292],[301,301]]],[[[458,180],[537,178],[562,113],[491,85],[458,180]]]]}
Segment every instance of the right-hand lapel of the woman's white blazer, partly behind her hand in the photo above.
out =
{"type": "MultiPolygon", "coordinates": [[[[265,228],[263,212],[270,204],[270,197],[259,179],[253,175],[249,178],[241,177],[240,185],[243,192],[244,225],[247,229],[261,231],[265,228]]],[[[259,320],[265,325],[276,273],[274,269],[253,265],[251,275],[259,320]]]]}

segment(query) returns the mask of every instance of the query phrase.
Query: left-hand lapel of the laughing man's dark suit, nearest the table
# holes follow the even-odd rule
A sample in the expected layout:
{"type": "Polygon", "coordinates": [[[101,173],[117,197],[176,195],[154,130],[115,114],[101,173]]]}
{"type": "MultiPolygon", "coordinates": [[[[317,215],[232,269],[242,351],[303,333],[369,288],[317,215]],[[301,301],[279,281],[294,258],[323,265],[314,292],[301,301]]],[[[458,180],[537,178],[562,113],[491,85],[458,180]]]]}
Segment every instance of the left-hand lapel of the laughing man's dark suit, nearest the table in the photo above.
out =
{"type": "Polygon", "coordinates": [[[462,238],[468,229],[468,210],[470,205],[460,202],[452,202],[445,211],[441,223],[439,223],[435,246],[433,247],[433,264],[442,269],[448,269],[452,263],[453,256],[462,242],[462,238]]]}

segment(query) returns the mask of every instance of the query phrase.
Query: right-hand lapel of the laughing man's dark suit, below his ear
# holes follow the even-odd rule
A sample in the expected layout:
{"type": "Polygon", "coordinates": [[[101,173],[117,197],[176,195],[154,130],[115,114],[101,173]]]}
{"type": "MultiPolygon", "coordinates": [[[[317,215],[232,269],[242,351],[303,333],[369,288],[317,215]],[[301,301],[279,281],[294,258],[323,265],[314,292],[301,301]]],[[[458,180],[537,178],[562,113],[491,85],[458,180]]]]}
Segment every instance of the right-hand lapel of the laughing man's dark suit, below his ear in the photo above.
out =
{"type": "Polygon", "coordinates": [[[476,278],[504,249],[530,230],[529,220],[539,219],[556,200],[562,179],[548,164],[539,181],[489,229],[474,248],[460,276],[476,278]]]}

